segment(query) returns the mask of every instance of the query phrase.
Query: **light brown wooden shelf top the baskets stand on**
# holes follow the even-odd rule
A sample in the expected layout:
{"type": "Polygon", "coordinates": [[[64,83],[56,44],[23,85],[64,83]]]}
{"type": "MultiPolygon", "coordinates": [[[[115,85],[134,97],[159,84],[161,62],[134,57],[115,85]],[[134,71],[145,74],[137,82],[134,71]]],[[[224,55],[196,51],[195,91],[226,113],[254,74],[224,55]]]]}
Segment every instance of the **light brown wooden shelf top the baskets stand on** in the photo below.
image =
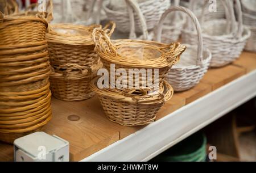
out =
{"type": "MultiPolygon", "coordinates": [[[[191,103],[212,90],[256,69],[256,53],[243,53],[234,65],[209,69],[203,80],[189,91],[177,92],[158,113],[157,120],[191,103]],[[249,62],[248,62],[249,61],[249,62]]],[[[71,161],[80,161],[110,144],[125,138],[141,127],[125,127],[109,121],[97,96],[83,102],[63,102],[52,99],[53,119],[44,131],[70,142],[71,161]],[[69,116],[80,120],[71,121],[69,116]]],[[[13,161],[13,146],[0,142],[0,161],[13,161]]]]}

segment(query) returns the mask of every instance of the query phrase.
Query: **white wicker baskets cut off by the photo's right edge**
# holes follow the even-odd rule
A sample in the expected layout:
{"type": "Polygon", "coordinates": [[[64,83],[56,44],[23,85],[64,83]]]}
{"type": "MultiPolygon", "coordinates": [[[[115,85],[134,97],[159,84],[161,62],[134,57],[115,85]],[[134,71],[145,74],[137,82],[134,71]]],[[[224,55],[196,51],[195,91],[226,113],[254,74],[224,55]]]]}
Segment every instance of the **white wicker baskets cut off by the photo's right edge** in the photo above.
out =
{"type": "Polygon", "coordinates": [[[245,50],[256,52],[256,1],[241,0],[241,5],[243,24],[251,30],[251,36],[245,45],[245,50]]]}

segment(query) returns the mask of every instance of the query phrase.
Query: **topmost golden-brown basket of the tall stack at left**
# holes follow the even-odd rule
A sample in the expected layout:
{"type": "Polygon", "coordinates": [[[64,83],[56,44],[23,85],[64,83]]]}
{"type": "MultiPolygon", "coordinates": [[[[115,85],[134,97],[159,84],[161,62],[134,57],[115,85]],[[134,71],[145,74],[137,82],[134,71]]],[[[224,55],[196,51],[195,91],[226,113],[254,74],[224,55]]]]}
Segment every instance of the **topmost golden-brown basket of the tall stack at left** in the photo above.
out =
{"type": "Polygon", "coordinates": [[[0,24],[0,45],[17,45],[46,40],[48,23],[36,16],[5,16],[0,24]]]}

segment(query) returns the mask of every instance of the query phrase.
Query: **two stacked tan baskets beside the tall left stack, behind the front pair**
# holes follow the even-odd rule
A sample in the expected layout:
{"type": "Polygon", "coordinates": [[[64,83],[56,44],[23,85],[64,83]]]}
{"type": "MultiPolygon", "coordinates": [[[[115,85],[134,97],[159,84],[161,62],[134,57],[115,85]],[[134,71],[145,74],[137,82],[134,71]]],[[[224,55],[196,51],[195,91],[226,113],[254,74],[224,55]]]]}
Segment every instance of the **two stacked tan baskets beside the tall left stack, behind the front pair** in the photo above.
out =
{"type": "MultiPolygon", "coordinates": [[[[105,32],[111,35],[115,24],[110,23],[105,32]],[[112,29],[108,29],[112,24],[112,29]]],[[[50,82],[55,98],[78,101],[92,98],[89,82],[102,67],[100,57],[94,52],[92,31],[100,25],[79,26],[54,24],[46,34],[52,67],[50,82]]]]}

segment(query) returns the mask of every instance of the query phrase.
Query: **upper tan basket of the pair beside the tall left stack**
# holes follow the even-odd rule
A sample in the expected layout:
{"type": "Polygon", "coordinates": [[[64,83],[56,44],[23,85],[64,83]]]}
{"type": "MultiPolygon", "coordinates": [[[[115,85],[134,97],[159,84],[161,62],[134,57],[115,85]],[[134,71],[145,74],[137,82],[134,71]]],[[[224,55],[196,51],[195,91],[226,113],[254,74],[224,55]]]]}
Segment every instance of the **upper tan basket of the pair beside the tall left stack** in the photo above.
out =
{"type": "MultiPolygon", "coordinates": [[[[50,33],[46,34],[51,65],[53,67],[65,64],[92,66],[97,64],[100,57],[94,51],[92,31],[100,25],[79,26],[73,24],[55,24],[50,33]]],[[[115,24],[109,23],[104,29],[111,35],[115,24]],[[112,29],[108,27],[112,25],[112,29]]]]}

